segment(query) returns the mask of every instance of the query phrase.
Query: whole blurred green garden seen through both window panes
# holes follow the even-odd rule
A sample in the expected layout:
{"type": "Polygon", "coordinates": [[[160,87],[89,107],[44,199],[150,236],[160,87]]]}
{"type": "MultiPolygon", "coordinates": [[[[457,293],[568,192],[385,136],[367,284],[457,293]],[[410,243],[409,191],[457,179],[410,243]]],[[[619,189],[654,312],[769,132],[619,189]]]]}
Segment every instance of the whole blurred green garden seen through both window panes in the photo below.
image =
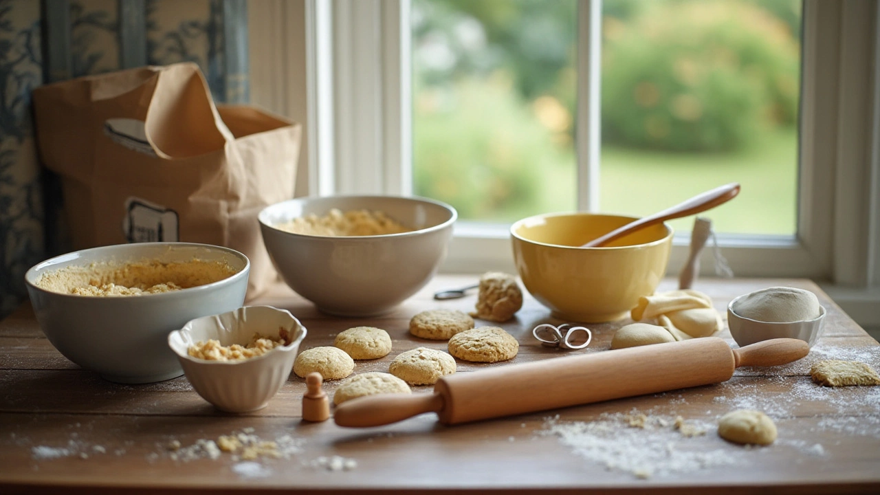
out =
{"type": "MultiPolygon", "coordinates": [[[[415,194],[464,219],[576,209],[576,4],[414,0],[415,194]]],[[[800,22],[792,0],[605,0],[600,210],[737,181],[716,230],[795,233],[800,22]]]]}

